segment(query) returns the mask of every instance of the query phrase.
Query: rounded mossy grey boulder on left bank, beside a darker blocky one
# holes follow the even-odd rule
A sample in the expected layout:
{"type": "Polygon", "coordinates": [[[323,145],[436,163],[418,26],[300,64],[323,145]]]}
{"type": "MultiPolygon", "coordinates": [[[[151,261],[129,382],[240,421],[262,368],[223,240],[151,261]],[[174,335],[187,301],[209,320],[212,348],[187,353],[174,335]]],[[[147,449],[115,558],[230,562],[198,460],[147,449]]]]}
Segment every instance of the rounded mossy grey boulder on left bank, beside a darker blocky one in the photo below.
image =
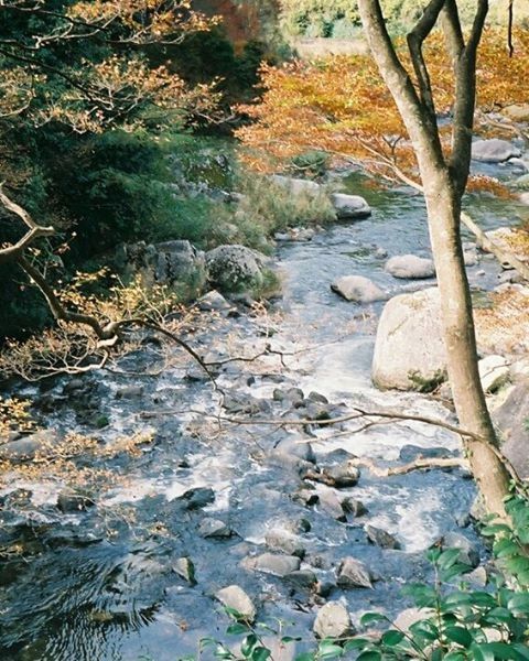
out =
{"type": "Polygon", "coordinates": [[[218,246],[206,253],[207,279],[222,291],[237,291],[262,283],[266,257],[246,246],[218,246]]]}

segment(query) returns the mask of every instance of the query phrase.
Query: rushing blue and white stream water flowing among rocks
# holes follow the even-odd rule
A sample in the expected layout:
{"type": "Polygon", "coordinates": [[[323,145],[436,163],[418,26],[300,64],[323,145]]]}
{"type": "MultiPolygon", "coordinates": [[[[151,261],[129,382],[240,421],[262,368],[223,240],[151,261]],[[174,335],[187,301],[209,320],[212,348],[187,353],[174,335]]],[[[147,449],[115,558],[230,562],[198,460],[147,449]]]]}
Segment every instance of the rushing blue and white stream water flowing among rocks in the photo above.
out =
{"type": "MultiPolygon", "coordinates": [[[[266,344],[284,354],[284,366],[280,356],[268,354],[222,367],[217,382],[226,393],[226,415],[291,420],[323,408],[335,416],[356,404],[454,422],[450,409],[428,395],[373,387],[370,361],[384,304],[348,303],[330,289],[347,274],[366,275],[387,291],[411,284],[385,273],[377,249],[389,257],[430,254],[423,202],[408,191],[359,191],[355,177],[343,183],[367,198],[373,216],[333,225],[311,241],[280,243],[273,259],[283,294],[268,313],[204,312],[187,339],[219,359],[252,356],[266,344]],[[301,388],[303,398],[283,397],[291,388],[301,388]],[[277,389],[281,392],[273,397],[277,389]]],[[[471,206],[484,229],[516,224],[522,214],[516,203],[486,196],[471,206]]],[[[494,288],[498,273],[498,264],[483,254],[468,268],[478,290],[494,288]]],[[[123,480],[97,495],[96,506],[86,511],[61,512],[60,485],[29,480],[3,489],[2,545],[18,543],[23,552],[4,557],[0,566],[2,661],[176,661],[195,653],[201,637],[224,637],[228,619],[214,594],[233,584],[251,596],[260,621],[280,618],[292,622],[289,631],[311,639],[319,604],[326,598],[344,600],[356,624],[366,610],[395,616],[407,608],[401,587],[428,578],[424,552],[449,532],[465,535],[486,562],[468,518],[475,487],[460,469],[390,478],[364,469],[358,484],[345,489],[300,478],[299,457],[309,456],[311,447],[321,467],[344,463],[350,454],[384,466],[412,459],[418,448],[458,453],[454,434],[415,422],[361,433],[353,433],[357,423],[219,426],[214,418],[218,392],[180,349],[174,356],[156,376],[102,372],[77,379],[75,388],[66,379],[19,388],[19,397],[45,403],[47,425],[57,433],[75,430],[111,444],[153,430],[153,438],[139,454],[111,459],[123,480]],[[107,416],[109,425],[94,432],[87,422],[93,412],[107,416]],[[25,491],[9,508],[15,487],[25,491]],[[306,494],[324,492],[321,502],[306,502],[306,494]],[[361,501],[367,513],[337,520],[336,498],[328,492],[361,501]],[[230,537],[205,538],[199,530],[205,518],[222,520],[230,537]],[[366,524],[395,535],[400,549],[369,543],[366,524]],[[306,572],[291,581],[251,567],[255,556],[276,552],[267,534],[278,530],[295,533],[305,552],[301,570],[326,586],[324,596],[303,585],[306,572]],[[370,570],[373,588],[336,586],[336,568],[346,556],[370,570]],[[174,571],[182,557],[193,561],[195,585],[174,571]]],[[[120,368],[141,371],[159,361],[156,345],[149,344],[120,368]]]]}

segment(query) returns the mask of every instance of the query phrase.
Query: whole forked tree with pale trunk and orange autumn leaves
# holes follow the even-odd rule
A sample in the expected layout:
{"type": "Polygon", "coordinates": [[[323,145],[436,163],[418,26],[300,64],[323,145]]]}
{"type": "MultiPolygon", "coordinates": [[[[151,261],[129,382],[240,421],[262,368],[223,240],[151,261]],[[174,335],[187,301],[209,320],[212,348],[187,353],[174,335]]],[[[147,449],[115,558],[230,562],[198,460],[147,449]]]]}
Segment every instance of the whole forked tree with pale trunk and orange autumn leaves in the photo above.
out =
{"type": "Polygon", "coordinates": [[[487,508],[505,514],[503,499],[510,475],[477,371],[461,218],[476,87],[483,110],[525,100],[520,80],[529,42],[527,33],[517,33],[517,47],[509,58],[505,37],[500,41],[493,31],[484,33],[487,0],[478,0],[468,33],[463,30],[458,4],[431,0],[406,42],[393,43],[380,2],[360,0],[373,59],[356,56],[314,66],[264,67],[262,104],[246,108],[258,121],[241,129],[239,137],[251,148],[247,158],[260,169],[271,165],[262,160],[262,150],[276,158],[277,165],[277,160],[320,149],[360,161],[377,174],[423,193],[442,299],[449,377],[462,427],[471,434],[466,451],[487,508]],[[450,121],[441,122],[440,117],[450,121]]]}

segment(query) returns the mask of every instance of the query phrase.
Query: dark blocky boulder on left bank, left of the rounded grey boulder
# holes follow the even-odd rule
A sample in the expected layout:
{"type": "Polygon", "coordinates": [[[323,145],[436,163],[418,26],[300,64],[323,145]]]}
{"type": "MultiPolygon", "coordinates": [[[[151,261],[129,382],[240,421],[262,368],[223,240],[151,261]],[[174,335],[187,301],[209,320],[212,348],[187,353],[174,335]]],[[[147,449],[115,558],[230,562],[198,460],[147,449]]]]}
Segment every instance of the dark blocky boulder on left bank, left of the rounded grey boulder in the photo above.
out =
{"type": "Polygon", "coordinates": [[[204,252],[190,241],[123,246],[126,271],[139,273],[147,286],[163,284],[172,289],[191,285],[199,291],[206,281],[204,252]]]}

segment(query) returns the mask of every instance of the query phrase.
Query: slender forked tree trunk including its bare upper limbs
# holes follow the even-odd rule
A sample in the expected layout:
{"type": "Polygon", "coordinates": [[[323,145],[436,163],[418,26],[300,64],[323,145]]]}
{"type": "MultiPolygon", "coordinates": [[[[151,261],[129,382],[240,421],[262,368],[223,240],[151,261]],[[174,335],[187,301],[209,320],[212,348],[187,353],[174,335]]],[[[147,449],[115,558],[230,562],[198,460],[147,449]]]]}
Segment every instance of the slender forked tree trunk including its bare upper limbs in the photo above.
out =
{"type": "MultiPolygon", "coordinates": [[[[447,371],[461,425],[483,437],[467,440],[466,451],[473,475],[487,510],[505,517],[504,498],[509,492],[510,475],[495,447],[498,440],[488,413],[477,370],[476,338],[472,302],[460,236],[461,201],[469,170],[472,120],[475,95],[475,51],[487,11],[487,0],[479,0],[467,47],[463,44],[456,12],[452,37],[460,48],[454,57],[456,69],[456,108],[453,126],[455,162],[443,155],[435,121],[432,89],[422,59],[422,40],[449,3],[431,0],[415,26],[410,50],[418,88],[402,66],[386,30],[379,0],[359,0],[361,21],[374,59],[391,93],[415,152],[427,202],[428,224],[441,296],[443,335],[447,371]],[[419,41],[418,41],[419,40],[419,41]]],[[[450,30],[450,25],[449,25],[450,30]]]]}

